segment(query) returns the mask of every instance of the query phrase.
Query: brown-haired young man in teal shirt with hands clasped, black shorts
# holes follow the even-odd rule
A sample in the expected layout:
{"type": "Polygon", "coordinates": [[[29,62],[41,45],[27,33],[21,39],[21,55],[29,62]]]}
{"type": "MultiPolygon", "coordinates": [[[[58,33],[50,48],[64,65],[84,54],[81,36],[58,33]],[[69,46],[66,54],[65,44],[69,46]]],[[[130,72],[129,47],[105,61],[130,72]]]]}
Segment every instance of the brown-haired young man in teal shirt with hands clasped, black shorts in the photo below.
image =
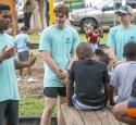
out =
{"type": "Polygon", "coordinates": [[[69,11],[64,4],[57,5],[54,25],[47,27],[40,37],[39,51],[45,61],[45,110],[40,125],[50,125],[51,113],[58,99],[58,125],[64,125],[60,104],[65,103],[67,70],[76,60],[75,49],[78,43],[77,32],[66,25],[69,11]]]}

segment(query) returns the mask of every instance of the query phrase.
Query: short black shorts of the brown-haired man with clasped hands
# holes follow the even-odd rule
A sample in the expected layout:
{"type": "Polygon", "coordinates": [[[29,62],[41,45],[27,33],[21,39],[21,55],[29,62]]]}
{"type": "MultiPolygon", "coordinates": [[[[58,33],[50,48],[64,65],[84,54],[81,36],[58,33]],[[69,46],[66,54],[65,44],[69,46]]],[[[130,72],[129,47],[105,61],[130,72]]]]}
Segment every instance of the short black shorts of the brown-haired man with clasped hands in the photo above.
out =
{"type": "Polygon", "coordinates": [[[49,98],[66,97],[66,87],[45,87],[44,95],[49,98]]]}

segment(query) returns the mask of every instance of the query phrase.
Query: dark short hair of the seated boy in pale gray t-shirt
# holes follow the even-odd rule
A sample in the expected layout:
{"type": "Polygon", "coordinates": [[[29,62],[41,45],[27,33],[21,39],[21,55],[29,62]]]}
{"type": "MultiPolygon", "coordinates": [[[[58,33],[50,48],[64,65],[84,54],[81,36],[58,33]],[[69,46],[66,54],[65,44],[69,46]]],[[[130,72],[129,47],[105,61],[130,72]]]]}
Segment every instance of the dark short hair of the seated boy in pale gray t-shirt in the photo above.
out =
{"type": "Polygon", "coordinates": [[[136,42],[127,42],[123,49],[123,55],[125,58],[136,57],[136,42]]]}

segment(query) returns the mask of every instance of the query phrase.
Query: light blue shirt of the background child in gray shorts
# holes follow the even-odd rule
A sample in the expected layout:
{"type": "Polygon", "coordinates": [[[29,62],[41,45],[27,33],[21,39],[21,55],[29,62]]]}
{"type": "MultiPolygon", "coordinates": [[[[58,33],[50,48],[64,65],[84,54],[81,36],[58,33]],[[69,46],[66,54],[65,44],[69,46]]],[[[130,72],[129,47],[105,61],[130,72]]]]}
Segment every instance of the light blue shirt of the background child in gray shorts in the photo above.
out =
{"type": "Polygon", "coordinates": [[[27,34],[18,34],[15,36],[15,43],[17,46],[17,52],[28,50],[27,42],[29,41],[27,34]]]}

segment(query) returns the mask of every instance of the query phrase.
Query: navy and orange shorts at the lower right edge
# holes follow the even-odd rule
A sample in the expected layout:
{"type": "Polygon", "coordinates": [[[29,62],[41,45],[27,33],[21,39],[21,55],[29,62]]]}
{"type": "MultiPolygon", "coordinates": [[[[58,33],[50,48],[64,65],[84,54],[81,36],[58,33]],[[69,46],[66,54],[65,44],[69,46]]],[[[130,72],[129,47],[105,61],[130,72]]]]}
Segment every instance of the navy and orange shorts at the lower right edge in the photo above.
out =
{"type": "Polygon", "coordinates": [[[127,108],[127,116],[136,117],[136,101],[129,101],[127,108]]]}

